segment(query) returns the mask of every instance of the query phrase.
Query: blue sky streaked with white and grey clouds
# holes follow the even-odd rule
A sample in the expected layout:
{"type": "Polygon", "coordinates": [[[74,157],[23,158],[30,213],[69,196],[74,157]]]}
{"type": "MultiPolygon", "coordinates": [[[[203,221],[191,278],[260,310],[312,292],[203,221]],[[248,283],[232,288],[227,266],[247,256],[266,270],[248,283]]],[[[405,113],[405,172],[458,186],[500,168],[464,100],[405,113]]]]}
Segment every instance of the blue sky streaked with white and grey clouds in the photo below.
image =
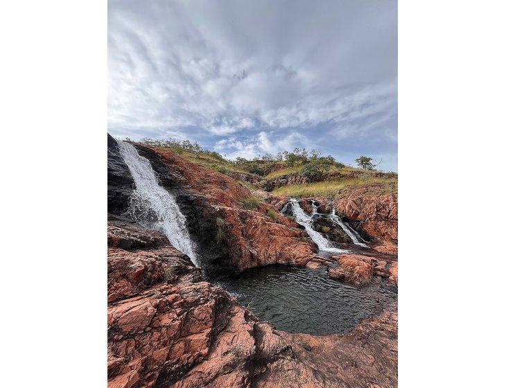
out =
{"type": "Polygon", "coordinates": [[[108,131],[397,170],[397,3],[109,1],[108,131]]]}

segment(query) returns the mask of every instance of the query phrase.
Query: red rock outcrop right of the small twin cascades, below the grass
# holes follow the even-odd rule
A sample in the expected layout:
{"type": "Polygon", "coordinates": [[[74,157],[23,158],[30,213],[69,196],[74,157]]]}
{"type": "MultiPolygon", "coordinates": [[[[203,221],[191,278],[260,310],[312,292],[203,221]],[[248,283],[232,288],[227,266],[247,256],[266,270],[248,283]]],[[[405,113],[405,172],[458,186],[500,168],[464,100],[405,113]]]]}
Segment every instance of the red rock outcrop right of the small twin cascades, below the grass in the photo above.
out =
{"type": "Polygon", "coordinates": [[[397,240],[397,194],[363,195],[360,190],[334,202],[336,211],[356,221],[376,240],[397,240]]]}

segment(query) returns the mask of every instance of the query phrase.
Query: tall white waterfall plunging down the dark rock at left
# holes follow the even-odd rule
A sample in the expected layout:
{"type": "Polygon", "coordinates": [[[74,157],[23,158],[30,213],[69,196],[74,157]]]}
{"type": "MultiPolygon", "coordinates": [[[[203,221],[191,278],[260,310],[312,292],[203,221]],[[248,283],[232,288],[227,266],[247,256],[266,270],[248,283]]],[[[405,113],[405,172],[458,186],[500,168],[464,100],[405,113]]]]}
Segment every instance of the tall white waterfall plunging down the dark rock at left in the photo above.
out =
{"type": "Polygon", "coordinates": [[[150,162],[130,143],[118,141],[119,151],[135,182],[128,212],[144,227],[162,231],[171,244],[197,265],[197,254],[186,229],[186,218],[171,193],[159,186],[150,162]]]}

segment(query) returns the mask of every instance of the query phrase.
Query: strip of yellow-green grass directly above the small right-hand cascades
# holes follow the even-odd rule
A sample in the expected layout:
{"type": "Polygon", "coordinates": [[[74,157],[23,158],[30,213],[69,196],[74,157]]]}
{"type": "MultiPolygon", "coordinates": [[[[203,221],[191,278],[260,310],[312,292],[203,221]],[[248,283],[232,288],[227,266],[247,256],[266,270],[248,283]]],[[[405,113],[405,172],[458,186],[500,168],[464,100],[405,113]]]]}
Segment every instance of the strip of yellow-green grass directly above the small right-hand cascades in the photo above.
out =
{"type": "Polygon", "coordinates": [[[288,195],[290,197],[335,197],[347,188],[358,188],[360,186],[376,186],[374,191],[380,191],[381,194],[395,193],[397,191],[397,179],[365,177],[356,179],[342,179],[332,182],[315,182],[312,184],[292,184],[283,186],[272,191],[277,195],[288,195]],[[380,186],[379,188],[377,186],[380,186]]]}

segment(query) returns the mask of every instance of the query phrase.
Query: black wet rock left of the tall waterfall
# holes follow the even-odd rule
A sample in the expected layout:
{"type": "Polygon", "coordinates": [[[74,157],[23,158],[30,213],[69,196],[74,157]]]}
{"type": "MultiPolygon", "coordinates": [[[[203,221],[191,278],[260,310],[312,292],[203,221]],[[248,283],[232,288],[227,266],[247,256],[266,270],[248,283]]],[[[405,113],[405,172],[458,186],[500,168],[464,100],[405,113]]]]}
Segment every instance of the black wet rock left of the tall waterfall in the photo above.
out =
{"type": "Polygon", "coordinates": [[[128,209],[135,184],[116,140],[107,134],[107,213],[121,215],[128,209]]]}

